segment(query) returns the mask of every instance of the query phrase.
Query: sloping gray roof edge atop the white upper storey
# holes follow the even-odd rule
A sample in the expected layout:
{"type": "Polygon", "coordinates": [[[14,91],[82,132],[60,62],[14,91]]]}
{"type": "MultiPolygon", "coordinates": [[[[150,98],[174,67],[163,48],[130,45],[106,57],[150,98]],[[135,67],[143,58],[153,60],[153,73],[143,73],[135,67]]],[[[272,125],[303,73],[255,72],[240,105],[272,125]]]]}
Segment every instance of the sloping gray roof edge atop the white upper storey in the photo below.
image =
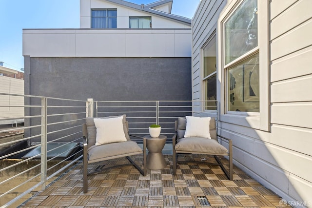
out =
{"type": "MultiPolygon", "coordinates": [[[[146,6],[144,5],[144,7],[143,7],[141,5],[138,5],[138,4],[135,4],[135,3],[131,3],[131,2],[128,2],[128,1],[125,1],[125,0],[107,0],[107,1],[112,2],[112,3],[117,3],[119,5],[127,6],[127,7],[130,7],[130,8],[133,8],[133,9],[137,9],[137,10],[140,10],[140,11],[156,14],[156,15],[159,15],[159,16],[162,16],[162,17],[170,18],[170,19],[173,19],[173,20],[176,20],[176,21],[181,21],[181,22],[184,22],[184,23],[187,23],[187,24],[191,24],[192,23],[192,20],[189,19],[189,18],[181,17],[181,16],[177,16],[177,15],[173,15],[173,14],[169,14],[169,13],[166,13],[166,12],[161,12],[161,11],[158,11],[158,10],[150,8],[149,6],[151,4],[153,5],[154,3],[150,3],[150,4],[146,5],[146,6]]],[[[172,1],[172,0],[160,0],[160,1],[163,2],[163,3],[168,3],[169,1],[172,1]]],[[[157,1],[155,3],[158,3],[158,2],[159,1],[157,1]]],[[[153,7],[155,7],[155,4],[154,4],[153,7]]]]}

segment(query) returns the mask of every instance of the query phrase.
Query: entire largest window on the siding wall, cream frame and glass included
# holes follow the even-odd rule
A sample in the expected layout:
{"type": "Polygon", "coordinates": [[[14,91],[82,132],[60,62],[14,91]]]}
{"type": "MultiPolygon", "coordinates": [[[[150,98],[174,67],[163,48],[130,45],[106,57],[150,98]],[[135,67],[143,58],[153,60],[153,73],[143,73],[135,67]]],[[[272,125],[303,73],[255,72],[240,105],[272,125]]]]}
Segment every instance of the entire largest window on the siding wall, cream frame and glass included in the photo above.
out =
{"type": "Polygon", "coordinates": [[[221,121],[270,130],[269,4],[232,0],[220,14],[221,121]]]}

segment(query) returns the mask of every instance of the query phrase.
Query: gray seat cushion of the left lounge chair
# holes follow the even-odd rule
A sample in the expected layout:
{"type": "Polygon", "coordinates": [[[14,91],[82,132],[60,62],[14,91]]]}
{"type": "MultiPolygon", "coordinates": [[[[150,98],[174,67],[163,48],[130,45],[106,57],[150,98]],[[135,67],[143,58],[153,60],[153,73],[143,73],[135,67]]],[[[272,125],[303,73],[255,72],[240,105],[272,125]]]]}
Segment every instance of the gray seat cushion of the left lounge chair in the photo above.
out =
{"type": "Polygon", "coordinates": [[[97,162],[140,153],[143,153],[143,150],[134,141],[94,145],[88,149],[88,160],[97,162]]]}

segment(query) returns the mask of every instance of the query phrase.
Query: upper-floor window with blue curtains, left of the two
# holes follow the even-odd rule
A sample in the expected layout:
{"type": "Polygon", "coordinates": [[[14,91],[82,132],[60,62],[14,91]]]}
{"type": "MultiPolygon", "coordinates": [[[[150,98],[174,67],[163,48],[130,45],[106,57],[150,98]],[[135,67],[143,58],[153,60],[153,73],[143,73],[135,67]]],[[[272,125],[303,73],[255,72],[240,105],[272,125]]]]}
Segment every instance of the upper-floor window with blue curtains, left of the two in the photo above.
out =
{"type": "Polygon", "coordinates": [[[117,9],[92,9],[91,28],[117,28],[117,9]]]}

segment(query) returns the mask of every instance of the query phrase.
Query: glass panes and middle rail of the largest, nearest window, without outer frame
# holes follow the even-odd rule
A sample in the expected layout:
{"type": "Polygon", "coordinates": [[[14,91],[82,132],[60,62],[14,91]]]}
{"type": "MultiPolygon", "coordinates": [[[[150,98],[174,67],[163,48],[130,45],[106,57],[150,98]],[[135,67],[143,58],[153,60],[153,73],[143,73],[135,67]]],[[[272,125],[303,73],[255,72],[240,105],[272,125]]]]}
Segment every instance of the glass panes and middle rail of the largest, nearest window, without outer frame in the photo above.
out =
{"type": "Polygon", "coordinates": [[[257,0],[243,0],[224,23],[227,110],[259,112],[257,0]]]}

